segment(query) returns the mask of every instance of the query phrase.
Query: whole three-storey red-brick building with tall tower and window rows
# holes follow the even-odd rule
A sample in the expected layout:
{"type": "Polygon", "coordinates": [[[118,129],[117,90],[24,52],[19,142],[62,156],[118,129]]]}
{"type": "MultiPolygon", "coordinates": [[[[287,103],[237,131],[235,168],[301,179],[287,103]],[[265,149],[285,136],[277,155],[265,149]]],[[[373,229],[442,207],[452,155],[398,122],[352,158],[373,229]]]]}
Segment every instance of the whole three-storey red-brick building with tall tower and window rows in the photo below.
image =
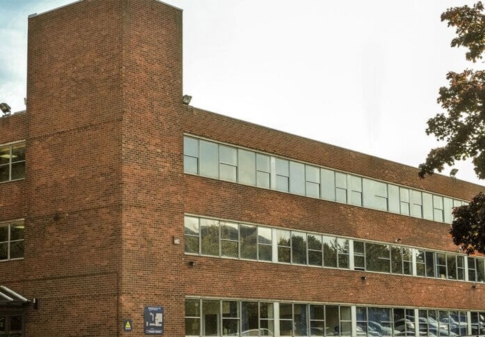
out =
{"type": "Polygon", "coordinates": [[[447,232],[483,187],[417,173],[182,103],[180,9],[31,15],[0,336],[482,334],[485,260],[447,232]]]}

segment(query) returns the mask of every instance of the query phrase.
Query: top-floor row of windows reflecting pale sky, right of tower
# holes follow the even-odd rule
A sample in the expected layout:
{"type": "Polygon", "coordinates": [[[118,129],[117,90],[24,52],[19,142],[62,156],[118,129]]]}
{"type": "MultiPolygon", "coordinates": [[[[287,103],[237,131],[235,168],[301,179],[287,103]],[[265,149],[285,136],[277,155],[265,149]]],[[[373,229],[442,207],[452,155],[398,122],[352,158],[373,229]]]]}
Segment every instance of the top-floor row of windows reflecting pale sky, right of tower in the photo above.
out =
{"type": "Polygon", "coordinates": [[[184,136],[184,172],[451,224],[463,201],[184,136]]]}

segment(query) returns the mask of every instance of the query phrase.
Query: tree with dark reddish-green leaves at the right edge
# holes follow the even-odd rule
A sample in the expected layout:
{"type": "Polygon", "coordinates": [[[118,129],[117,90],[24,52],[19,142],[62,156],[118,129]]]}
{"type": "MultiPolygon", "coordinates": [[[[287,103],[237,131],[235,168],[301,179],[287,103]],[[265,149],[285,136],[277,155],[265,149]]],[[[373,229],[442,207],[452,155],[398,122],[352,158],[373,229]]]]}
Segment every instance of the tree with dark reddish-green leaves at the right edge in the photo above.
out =
{"type": "MultiPolygon", "coordinates": [[[[452,47],[465,47],[466,59],[473,63],[485,54],[485,14],[482,2],[474,6],[448,8],[441,21],[456,28],[452,47]]],[[[426,133],[434,134],[445,146],[432,149],[419,175],[443,171],[445,164],[472,159],[478,178],[485,178],[485,71],[466,69],[448,72],[448,86],[439,90],[438,104],[446,113],[428,120],[426,133]]],[[[470,205],[454,209],[450,234],[467,253],[485,253],[485,195],[480,193],[470,205]]]]}

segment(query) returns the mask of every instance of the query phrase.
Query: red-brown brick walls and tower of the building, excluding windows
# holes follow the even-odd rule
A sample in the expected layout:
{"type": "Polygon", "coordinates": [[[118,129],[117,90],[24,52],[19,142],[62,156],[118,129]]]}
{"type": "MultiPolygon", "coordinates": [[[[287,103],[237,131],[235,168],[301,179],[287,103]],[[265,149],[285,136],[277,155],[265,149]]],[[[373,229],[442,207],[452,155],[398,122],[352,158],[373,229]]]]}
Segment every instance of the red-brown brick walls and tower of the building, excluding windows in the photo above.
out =
{"type": "Polygon", "coordinates": [[[447,224],[184,174],[183,134],[465,200],[483,187],[183,105],[181,10],[79,1],[29,18],[28,56],[27,110],[0,118],[0,144],[26,141],[26,178],[0,184],[25,257],[0,262],[0,285],[39,299],[27,336],[119,336],[127,318],[141,336],[150,305],[184,336],[191,295],[485,311],[485,288],[466,282],[187,257],[184,213],[456,246],[447,224]]]}

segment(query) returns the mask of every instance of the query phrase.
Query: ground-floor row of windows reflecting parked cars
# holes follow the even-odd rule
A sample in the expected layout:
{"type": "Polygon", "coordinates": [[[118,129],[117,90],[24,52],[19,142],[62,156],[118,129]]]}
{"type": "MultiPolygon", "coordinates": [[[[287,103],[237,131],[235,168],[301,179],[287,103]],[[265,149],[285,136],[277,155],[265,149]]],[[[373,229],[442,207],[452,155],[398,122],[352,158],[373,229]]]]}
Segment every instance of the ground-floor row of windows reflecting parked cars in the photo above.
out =
{"type": "Polygon", "coordinates": [[[186,336],[466,336],[484,332],[482,312],[185,300],[186,336]]]}

